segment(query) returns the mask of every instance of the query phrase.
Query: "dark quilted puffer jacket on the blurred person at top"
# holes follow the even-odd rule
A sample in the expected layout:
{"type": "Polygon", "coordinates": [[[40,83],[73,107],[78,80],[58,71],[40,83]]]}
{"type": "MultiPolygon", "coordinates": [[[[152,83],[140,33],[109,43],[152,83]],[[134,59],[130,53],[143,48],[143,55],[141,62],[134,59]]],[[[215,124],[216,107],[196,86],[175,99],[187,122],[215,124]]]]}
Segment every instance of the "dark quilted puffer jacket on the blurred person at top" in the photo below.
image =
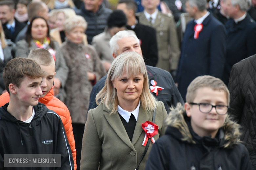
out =
{"type": "Polygon", "coordinates": [[[85,31],[88,44],[92,43],[94,36],[104,32],[104,29],[107,26],[107,19],[111,13],[112,10],[105,8],[103,5],[99,7],[99,10],[96,13],[87,11],[84,7],[84,2],[82,3],[81,9],[79,9],[76,14],[84,17],[88,24],[85,31]]]}

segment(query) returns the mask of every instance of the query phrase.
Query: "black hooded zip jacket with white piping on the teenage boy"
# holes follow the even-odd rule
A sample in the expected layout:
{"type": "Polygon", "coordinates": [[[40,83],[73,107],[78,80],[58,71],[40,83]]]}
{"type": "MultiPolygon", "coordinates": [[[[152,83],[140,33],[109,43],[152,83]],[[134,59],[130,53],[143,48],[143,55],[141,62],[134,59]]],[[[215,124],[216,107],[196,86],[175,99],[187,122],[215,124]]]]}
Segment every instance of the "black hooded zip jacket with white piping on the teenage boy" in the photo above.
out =
{"type": "MultiPolygon", "coordinates": [[[[61,154],[61,169],[74,169],[72,152],[60,117],[44,104],[34,107],[35,116],[30,123],[17,120],[0,108],[0,169],[46,169],[32,167],[4,168],[4,154],[61,154]],[[52,141],[44,144],[44,141],[52,141]]],[[[56,169],[49,167],[49,170],[56,169]]],[[[60,169],[60,168],[59,168],[60,169]]]]}

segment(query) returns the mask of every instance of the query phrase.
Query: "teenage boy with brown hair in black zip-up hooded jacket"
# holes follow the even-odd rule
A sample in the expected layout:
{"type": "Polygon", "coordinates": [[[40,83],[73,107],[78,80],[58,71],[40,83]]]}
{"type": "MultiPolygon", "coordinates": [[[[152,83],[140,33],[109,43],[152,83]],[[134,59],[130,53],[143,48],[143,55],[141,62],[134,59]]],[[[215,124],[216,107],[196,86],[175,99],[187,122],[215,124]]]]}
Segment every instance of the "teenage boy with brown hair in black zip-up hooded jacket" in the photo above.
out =
{"type": "Polygon", "coordinates": [[[74,169],[60,117],[38,103],[43,95],[40,84],[44,76],[45,72],[32,59],[17,57],[4,68],[10,102],[0,108],[0,169],[4,168],[5,154],[60,154],[62,169],[74,169]],[[43,143],[49,140],[49,144],[43,143]]]}

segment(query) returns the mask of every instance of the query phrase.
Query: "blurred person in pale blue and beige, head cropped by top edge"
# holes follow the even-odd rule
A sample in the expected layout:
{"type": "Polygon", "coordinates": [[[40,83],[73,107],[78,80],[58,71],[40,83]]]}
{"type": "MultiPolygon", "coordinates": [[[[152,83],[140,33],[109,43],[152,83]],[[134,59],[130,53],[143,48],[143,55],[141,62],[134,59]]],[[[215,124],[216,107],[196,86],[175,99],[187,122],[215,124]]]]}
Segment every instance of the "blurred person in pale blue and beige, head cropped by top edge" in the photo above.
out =
{"type": "Polygon", "coordinates": [[[50,10],[63,8],[71,8],[75,11],[77,10],[72,0],[49,0],[47,6],[50,10]]]}

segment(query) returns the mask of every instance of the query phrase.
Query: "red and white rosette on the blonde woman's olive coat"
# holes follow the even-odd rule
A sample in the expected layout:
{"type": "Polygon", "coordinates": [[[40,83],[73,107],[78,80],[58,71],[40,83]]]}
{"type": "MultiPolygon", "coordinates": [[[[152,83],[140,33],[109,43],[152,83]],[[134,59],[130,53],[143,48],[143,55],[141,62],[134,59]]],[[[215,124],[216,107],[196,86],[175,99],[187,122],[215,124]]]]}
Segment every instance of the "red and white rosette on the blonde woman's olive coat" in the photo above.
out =
{"type": "Polygon", "coordinates": [[[155,139],[154,139],[153,136],[155,136],[157,134],[158,126],[156,124],[152,123],[152,122],[146,121],[145,123],[142,123],[142,129],[146,133],[142,145],[146,146],[149,138],[151,138],[151,141],[154,144],[155,139]]]}

